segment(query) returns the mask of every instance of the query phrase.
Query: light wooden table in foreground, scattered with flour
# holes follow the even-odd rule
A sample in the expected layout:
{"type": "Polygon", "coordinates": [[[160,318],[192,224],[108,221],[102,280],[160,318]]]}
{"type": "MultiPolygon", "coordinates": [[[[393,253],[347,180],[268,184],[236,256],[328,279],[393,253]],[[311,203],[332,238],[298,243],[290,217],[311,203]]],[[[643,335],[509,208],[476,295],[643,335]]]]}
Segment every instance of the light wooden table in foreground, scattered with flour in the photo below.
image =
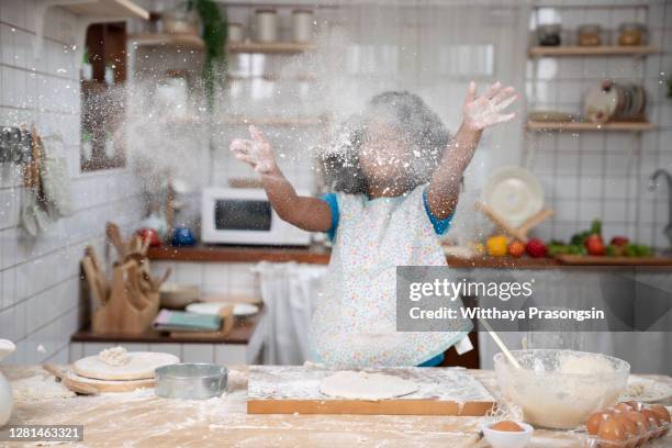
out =
{"type": "MultiPolygon", "coordinates": [[[[0,366],[12,381],[42,368],[0,366]]],[[[496,396],[494,372],[474,376],[496,396]]],[[[51,379],[49,379],[51,380],[51,379]]],[[[665,377],[665,381],[672,379],[665,377]]],[[[488,447],[480,417],[372,415],[248,415],[247,369],[233,368],[228,392],[204,401],[167,400],[153,389],[99,396],[18,402],[11,425],[83,425],[87,447],[488,447]]],[[[537,429],[530,447],[580,447],[571,432],[537,429]]],[[[35,446],[37,444],[33,444],[35,446]]],[[[2,443],[0,443],[2,446],[2,443]]],[[[5,446],[20,446],[18,443],[5,446]]],[[[672,435],[652,447],[672,446],[672,435]]]]}

